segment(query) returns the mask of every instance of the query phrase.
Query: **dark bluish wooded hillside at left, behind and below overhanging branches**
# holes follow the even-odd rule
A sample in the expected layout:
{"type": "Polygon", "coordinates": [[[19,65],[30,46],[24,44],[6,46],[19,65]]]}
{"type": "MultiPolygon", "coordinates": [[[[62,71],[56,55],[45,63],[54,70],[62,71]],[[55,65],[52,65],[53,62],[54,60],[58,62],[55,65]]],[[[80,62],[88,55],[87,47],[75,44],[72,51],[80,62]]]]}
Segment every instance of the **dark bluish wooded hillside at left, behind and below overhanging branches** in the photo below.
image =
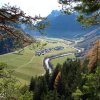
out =
{"type": "Polygon", "coordinates": [[[12,52],[15,49],[25,47],[33,42],[33,37],[19,29],[12,29],[13,34],[0,31],[0,54],[12,52]]]}

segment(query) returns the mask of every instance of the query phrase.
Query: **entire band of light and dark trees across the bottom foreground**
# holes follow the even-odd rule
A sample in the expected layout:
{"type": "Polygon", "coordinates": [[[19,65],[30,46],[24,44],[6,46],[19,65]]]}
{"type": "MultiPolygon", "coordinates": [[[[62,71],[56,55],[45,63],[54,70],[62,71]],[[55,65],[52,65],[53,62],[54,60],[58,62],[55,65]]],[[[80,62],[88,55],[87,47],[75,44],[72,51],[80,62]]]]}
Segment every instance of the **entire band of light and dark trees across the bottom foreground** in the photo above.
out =
{"type": "Polygon", "coordinates": [[[100,63],[95,72],[89,72],[88,60],[66,60],[54,71],[32,77],[30,84],[22,86],[12,76],[5,63],[0,63],[0,99],[7,100],[99,100],[100,63]]]}

